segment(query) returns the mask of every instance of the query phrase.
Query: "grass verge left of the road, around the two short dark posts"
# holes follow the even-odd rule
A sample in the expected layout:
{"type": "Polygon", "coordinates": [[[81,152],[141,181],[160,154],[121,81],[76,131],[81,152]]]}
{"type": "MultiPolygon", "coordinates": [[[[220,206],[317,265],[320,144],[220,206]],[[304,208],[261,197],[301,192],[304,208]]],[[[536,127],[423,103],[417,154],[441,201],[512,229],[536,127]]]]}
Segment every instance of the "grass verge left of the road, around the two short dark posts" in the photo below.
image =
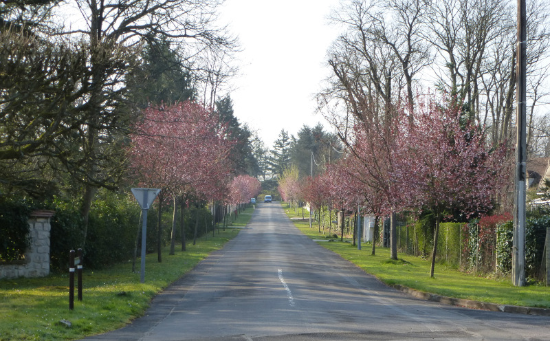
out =
{"type": "Polygon", "coordinates": [[[143,284],[139,259],[135,273],[131,272],[131,262],[85,271],[83,301],[76,300],[72,311],[67,274],[0,280],[0,340],[76,340],[123,327],[144,314],[155,294],[234,238],[252,212],[252,208],[245,210],[225,231],[217,230],[214,237],[210,232],[197,239],[196,245],[188,243],[185,252],[169,256],[169,248],[164,248],[162,263],[158,263],[156,253],[148,254],[143,284]],[[67,327],[61,320],[72,326],[67,327]]]}

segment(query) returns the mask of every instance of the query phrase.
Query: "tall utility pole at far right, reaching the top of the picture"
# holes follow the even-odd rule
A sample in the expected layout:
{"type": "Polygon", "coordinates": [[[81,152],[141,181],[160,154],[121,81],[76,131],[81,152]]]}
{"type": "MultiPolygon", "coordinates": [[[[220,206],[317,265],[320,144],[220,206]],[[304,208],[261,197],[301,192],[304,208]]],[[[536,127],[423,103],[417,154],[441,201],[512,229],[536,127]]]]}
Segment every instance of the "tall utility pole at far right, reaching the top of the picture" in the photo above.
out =
{"type": "Polygon", "coordinates": [[[511,281],[525,285],[525,191],[526,191],[526,0],[518,0],[518,45],[516,65],[516,197],[514,201],[514,236],[512,245],[511,281]]]}

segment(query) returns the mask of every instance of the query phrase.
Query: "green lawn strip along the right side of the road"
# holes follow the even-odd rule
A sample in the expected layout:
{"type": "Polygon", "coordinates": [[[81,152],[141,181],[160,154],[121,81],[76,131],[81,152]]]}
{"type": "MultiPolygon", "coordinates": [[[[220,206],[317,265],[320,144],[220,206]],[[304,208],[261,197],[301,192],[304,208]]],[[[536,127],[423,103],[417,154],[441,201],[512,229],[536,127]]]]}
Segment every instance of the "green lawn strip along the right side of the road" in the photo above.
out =
{"type": "MultiPolygon", "coordinates": [[[[302,217],[283,206],[289,217],[302,217]]],[[[309,214],[308,214],[309,217],[309,214]]],[[[307,219],[306,219],[307,220],[307,219]]],[[[309,228],[309,221],[294,220],[294,224],[311,239],[326,239],[319,234],[317,225],[309,228]]],[[[388,285],[403,285],[422,292],[430,292],[454,298],[466,298],[500,305],[520,305],[525,307],[550,308],[550,287],[528,285],[514,287],[509,278],[483,278],[436,264],[434,278],[430,278],[430,262],[419,257],[399,254],[399,261],[390,261],[388,248],[376,248],[371,256],[372,245],[357,246],[345,243],[349,239],[333,242],[319,242],[319,245],[340,254],[342,258],[373,274],[388,285]]]]}

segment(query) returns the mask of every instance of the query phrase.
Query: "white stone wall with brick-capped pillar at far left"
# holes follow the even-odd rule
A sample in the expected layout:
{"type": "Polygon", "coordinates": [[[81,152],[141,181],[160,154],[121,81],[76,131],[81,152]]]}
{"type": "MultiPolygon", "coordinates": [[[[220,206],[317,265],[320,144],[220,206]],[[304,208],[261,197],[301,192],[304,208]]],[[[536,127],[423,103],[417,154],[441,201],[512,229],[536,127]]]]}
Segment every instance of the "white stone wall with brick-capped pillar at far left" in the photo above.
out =
{"type": "Polygon", "coordinates": [[[0,278],[41,277],[50,274],[51,211],[36,211],[29,218],[30,246],[25,260],[0,264],[0,278]]]}

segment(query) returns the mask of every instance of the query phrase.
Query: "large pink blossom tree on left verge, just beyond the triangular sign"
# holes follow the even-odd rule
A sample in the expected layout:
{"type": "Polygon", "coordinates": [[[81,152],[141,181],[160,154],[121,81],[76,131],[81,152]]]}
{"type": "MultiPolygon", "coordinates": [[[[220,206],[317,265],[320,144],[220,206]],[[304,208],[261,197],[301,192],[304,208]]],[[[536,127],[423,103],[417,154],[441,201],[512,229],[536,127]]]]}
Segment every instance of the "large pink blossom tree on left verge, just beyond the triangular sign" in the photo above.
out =
{"type": "MultiPolygon", "coordinates": [[[[220,197],[228,175],[225,160],[231,142],[218,116],[195,102],[179,102],[144,110],[131,134],[129,157],[135,179],[142,186],[162,188],[157,225],[158,261],[162,261],[160,212],[162,199],[174,201],[172,253],[177,197],[184,194],[220,197]]],[[[182,200],[183,201],[183,200],[182,200]]],[[[184,248],[185,241],[182,241],[184,248]]]]}

